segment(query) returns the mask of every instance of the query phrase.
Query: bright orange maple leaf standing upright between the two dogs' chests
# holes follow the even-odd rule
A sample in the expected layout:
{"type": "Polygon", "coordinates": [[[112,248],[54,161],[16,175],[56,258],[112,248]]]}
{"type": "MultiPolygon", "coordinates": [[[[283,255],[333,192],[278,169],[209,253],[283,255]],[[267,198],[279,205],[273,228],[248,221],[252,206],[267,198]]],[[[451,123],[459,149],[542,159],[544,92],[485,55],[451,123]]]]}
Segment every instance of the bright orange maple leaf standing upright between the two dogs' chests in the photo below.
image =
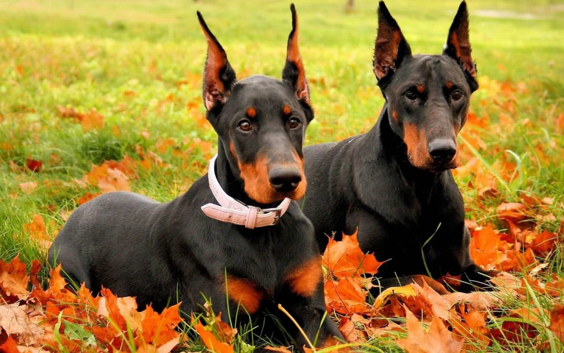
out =
{"type": "Polygon", "coordinates": [[[333,276],[361,278],[364,273],[378,272],[383,262],[378,262],[374,254],[365,255],[360,250],[357,233],[358,230],[350,236],[343,234],[341,241],[329,239],[321,261],[333,276]]]}

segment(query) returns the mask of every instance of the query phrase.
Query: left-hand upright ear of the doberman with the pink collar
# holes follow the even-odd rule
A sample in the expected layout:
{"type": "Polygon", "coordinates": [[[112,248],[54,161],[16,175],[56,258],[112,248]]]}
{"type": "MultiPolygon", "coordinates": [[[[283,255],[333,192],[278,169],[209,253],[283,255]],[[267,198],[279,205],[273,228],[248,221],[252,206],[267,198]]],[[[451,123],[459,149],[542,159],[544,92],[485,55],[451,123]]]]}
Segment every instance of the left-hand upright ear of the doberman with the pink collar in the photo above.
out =
{"type": "Polygon", "coordinates": [[[197,15],[208,42],[208,58],[204,67],[202,96],[206,110],[210,111],[227,102],[231,95],[231,88],[237,82],[237,77],[227,60],[225,50],[211,33],[200,11],[197,11],[197,15]]]}

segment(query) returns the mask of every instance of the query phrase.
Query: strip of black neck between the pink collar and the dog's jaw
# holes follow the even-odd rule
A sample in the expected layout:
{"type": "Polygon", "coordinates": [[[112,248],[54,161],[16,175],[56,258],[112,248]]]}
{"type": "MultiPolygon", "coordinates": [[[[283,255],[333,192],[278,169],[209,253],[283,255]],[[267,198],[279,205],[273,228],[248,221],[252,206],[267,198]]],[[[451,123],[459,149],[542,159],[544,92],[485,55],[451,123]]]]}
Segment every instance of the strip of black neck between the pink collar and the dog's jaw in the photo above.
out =
{"type": "Polygon", "coordinates": [[[240,177],[239,166],[231,154],[226,151],[224,143],[219,139],[218,155],[215,160],[215,177],[223,191],[232,198],[237,199],[249,206],[261,208],[276,207],[278,203],[263,204],[254,201],[245,193],[245,184],[240,177]]]}

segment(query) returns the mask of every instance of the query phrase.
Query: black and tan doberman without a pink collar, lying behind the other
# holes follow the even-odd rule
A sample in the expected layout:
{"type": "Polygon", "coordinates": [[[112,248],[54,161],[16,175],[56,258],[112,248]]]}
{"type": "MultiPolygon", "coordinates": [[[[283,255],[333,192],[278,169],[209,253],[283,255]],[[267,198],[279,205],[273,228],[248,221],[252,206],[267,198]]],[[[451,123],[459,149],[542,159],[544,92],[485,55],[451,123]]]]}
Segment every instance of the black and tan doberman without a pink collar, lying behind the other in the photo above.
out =
{"type": "Polygon", "coordinates": [[[305,149],[310,184],[303,211],[319,245],[325,248],[327,234],[338,238],[358,227],[361,249],[388,260],[378,269],[382,286],[420,281],[420,274],[464,274],[462,281],[480,285],[488,278],[470,258],[464,203],[450,171],[458,163],[457,133],[478,88],[466,3],[442,55],[412,55],[380,2],[373,64],[386,99],[376,125],[305,149]]]}

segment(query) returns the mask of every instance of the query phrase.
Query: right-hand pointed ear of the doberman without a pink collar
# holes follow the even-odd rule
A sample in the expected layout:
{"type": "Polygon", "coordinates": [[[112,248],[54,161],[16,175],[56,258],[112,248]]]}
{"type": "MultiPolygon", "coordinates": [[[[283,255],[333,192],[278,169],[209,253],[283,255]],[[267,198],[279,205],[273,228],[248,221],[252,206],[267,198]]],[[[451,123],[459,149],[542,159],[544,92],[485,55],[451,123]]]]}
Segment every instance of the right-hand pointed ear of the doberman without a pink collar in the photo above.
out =
{"type": "Polygon", "coordinates": [[[466,2],[462,1],[459,10],[456,12],[455,19],[452,21],[451,28],[448,30],[447,43],[444,46],[443,55],[448,55],[455,59],[466,75],[472,91],[478,89],[476,80],[476,64],[472,60],[472,49],[470,48],[470,34],[468,29],[468,9],[466,2]]]}

